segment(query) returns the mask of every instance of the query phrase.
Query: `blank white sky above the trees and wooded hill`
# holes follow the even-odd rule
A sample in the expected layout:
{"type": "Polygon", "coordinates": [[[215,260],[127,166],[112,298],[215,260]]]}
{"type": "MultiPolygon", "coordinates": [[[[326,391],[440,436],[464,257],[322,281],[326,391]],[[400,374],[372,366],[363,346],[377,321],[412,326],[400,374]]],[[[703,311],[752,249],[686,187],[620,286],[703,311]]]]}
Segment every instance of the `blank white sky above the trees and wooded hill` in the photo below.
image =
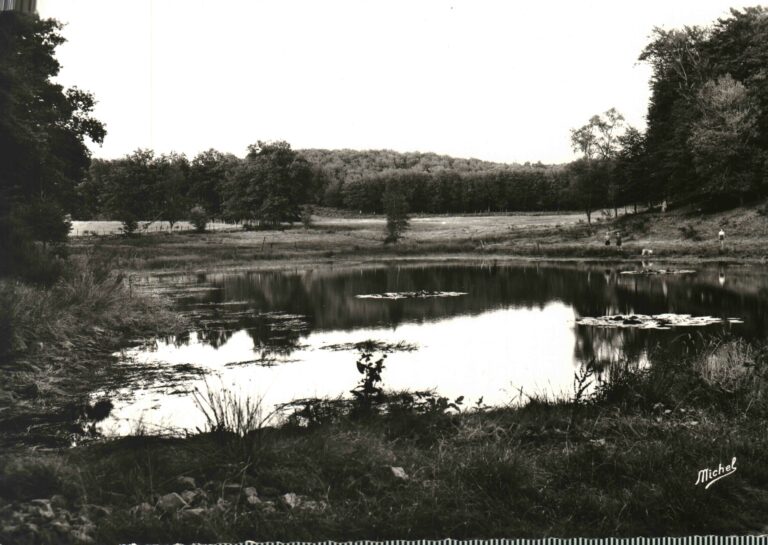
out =
{"type": "Polygon", "coordinates": [[[38,0],[65,23],[58,81],[92,92],[94,157],[138,148],[575,158],[570,129],[617,108],[643,129],[655,26],[722,0],[38,0]]]}

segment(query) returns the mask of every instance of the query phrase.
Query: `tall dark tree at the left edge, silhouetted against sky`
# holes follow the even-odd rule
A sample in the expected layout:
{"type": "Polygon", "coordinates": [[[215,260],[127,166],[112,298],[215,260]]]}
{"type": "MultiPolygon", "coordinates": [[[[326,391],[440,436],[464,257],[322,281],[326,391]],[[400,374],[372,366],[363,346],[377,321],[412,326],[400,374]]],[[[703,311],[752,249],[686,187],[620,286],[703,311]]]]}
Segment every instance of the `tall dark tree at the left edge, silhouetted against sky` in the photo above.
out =
{"type": "Polygon", "coordinates": [[[20,273],[30,239],[62,240],[75,187],[104,125],[95,100],[54,83],[61,25],[36,15],[0,12],[0,274],[20,273]],[[35,210],[47,229],[34,226],[35,210]]]}

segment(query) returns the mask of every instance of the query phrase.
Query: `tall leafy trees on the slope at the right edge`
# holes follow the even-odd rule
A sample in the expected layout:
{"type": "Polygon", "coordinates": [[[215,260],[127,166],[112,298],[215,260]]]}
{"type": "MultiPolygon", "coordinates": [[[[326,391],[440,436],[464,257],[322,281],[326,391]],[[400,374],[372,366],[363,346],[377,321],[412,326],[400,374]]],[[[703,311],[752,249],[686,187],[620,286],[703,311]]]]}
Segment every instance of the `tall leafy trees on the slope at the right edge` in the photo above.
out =
{"type": "Polygon", "coordinates": [[[611,109],[571,132],[582,208],[636,202],[722,208],[768,194],[768,11],[708,27],[655,28],[647,127],[611,109]]]}

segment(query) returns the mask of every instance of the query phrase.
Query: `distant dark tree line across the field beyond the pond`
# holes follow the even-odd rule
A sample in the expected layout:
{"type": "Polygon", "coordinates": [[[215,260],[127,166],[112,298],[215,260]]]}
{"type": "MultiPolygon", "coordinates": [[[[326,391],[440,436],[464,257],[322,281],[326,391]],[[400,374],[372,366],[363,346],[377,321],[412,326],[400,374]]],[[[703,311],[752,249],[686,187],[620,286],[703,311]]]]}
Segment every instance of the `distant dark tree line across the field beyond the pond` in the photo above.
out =
{"type": "MultiPolygon", "coordinates": [[[[399,156],[391,151],[357,152],[353,157],[399,156]]],[[[324,157],[333,157],[326,152],[324,157]]],[[[245,158],[208,150],[192,160],[137,150],[122,159],[94,159],[81,195],[78,219],[119,219],[175,223],[193,207],[211,217],[274,225],[295,221],[300,205],[315,204],[365,213],[384,210],[384,193],[395,184],[411,212],[462,213],[559,210],[573,207],[567,169],[562,166],[509,166],[480,163],[473,169],[390,162],[350,161],[328,168],[316,154],[287,142],[259,142],[245,158]]],[[[446,162],[454,161],[446,158],[446,162]]]]}

